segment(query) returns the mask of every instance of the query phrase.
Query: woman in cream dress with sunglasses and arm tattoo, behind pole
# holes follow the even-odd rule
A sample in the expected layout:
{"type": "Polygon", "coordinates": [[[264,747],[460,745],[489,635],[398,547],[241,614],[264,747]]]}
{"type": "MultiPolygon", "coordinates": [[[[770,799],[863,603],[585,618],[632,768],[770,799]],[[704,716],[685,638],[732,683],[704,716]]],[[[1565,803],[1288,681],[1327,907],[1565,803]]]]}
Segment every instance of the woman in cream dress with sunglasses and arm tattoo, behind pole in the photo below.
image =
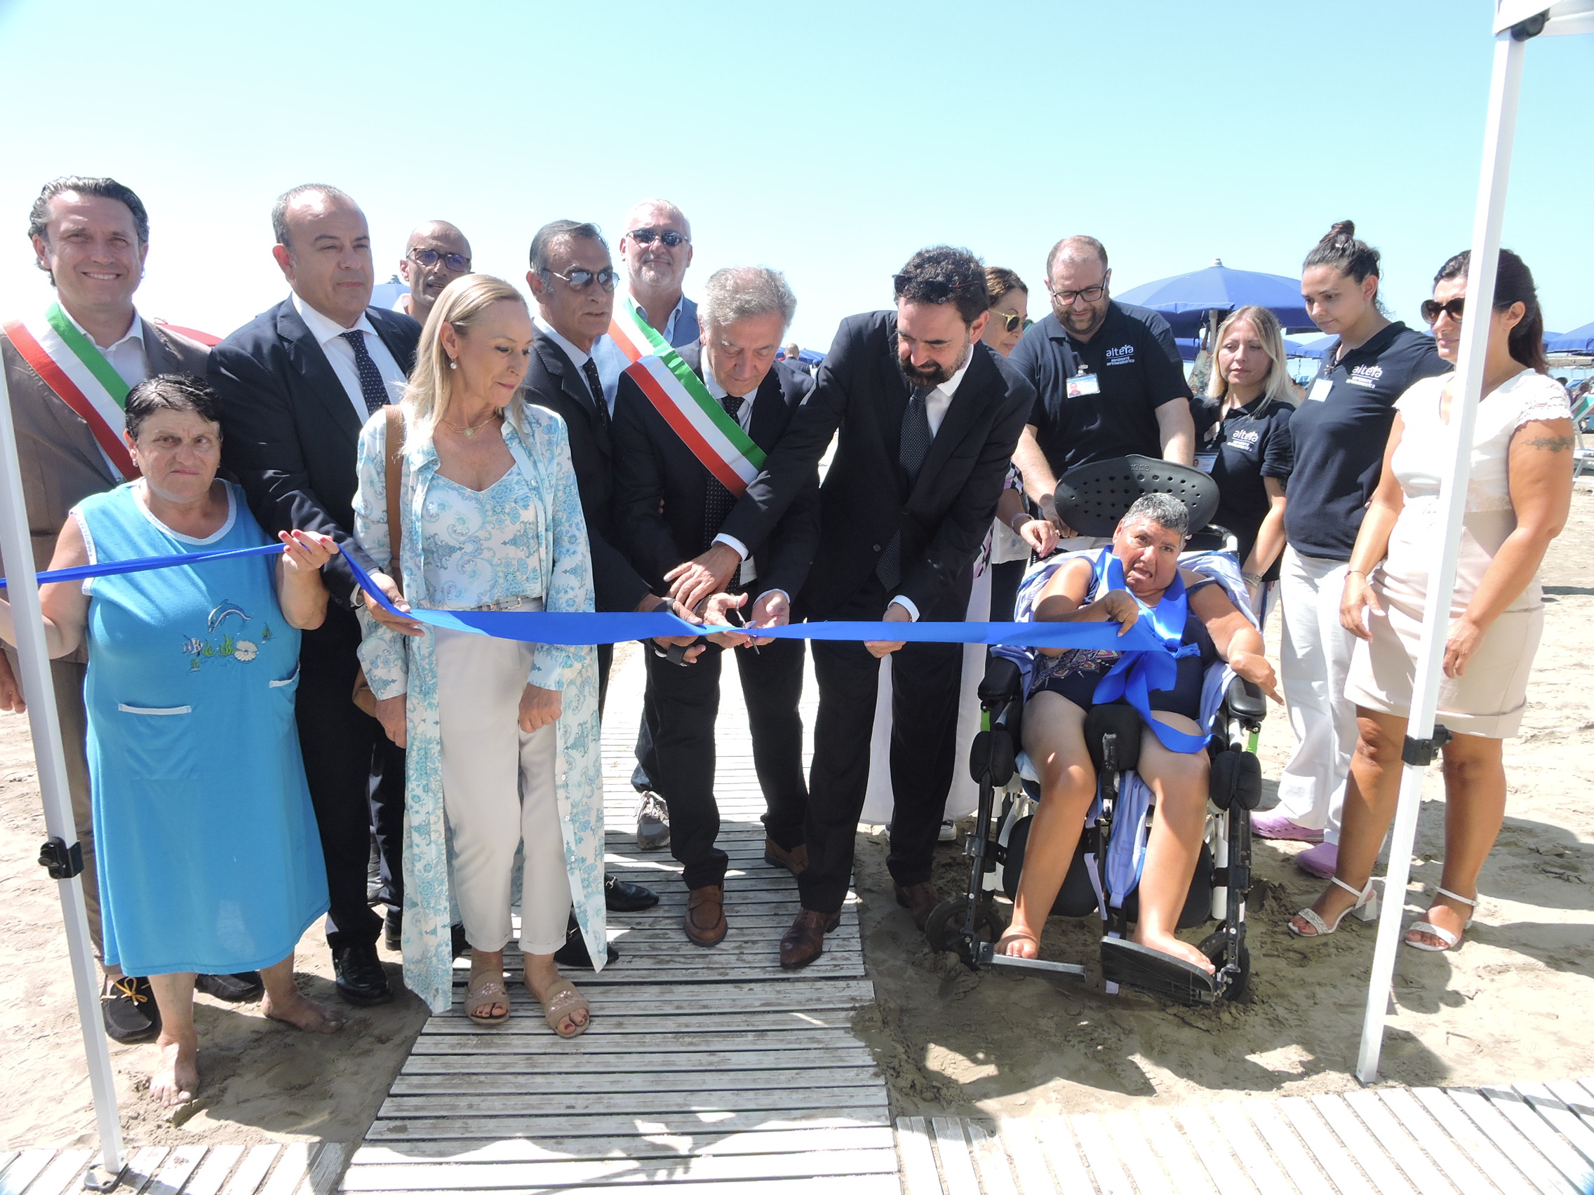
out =
{"type": "MultiPolygon", "coordinates": [[[[1460,347],[1463,308],[1476,314],[1466,266],[1466,253],[1446,261],[1422,304],[1447,362],[1460,347]]],[[[1417,950],[1455,946],[1478,903],[1478,873],[1505,821],[1502,741],[1521,727],[1545,621],[1538,566],[1572,503],[1572,408],[1546,374],[1533,276],[1505,249],[1489,319],[1439,685],[1438,722],[1455,736],[1444,747],[1444,873],[1425,918],[1406,934],[1417,950]]],[[[1356,706],[1360,741],[1336,873],[1317,903],[1290,921],[1301,937],[1333,934],[1345,913],[1377,916],[1372,865],[1400,797],[1454,394],[1455,374],[1447,374],[1401,395],[1384,475],[1350,558],[1341,621],[1356,636],[1345,696],[1356,706]]]]}

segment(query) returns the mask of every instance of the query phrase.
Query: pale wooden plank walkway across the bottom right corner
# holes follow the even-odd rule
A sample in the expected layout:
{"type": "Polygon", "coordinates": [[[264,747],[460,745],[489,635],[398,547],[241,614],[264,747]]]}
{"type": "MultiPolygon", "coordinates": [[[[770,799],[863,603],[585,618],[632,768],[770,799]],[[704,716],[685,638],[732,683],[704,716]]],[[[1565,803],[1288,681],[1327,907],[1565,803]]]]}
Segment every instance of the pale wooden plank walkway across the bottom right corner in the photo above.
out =
{"type": "Polygon", "coordinates": [[[1589,1195],[1594,1080],[897,1117],[905,1195],[1589,1195]]]}

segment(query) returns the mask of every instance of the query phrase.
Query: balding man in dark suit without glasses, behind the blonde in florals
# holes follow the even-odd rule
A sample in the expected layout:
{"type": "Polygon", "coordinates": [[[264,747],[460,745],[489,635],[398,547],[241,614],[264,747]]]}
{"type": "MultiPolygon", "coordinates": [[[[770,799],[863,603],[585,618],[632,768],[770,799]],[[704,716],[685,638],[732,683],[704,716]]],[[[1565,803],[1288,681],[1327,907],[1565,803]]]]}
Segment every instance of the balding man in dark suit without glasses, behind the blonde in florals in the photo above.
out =
{"type": "MultiPolygon", "coordinates": [[[[367,417],[403,394],[421,325],[371,308],[365,214],[333,186],[296,186],[271,212],[271,250],[292,295],[210,352],[222,395],[223,464],[268,532],[304,527],[354,547],[355,443],[367,417]]],[[[386,561],[360,561],[389,596],[386,561]]],[[[402,770],[403,752],[352,701],[360,590],[341,556],[322,570],[333,601],[304,633],[296,719],[320,848],[327,859],[327,943],[349,1004],[392,999],[376,956],[381,919],[365,903],[373,766],[402,770]]],[[[387,621],[376,609],[375,617],[387,621]]],[[[397,849],[397,841],[392,844],[397,849]]],[[[397,859],[391,870],[402,873],[397,859]]]]}

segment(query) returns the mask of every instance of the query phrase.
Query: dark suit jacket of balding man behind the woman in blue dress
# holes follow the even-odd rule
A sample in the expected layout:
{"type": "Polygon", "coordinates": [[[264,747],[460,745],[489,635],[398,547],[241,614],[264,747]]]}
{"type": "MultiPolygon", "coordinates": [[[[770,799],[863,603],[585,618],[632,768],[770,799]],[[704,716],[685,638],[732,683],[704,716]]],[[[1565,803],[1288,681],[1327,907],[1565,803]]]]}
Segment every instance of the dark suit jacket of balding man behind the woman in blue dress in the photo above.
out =
{"type": "MultiPolygon", "coordinates": [[[[397,311],[367,319],[406,374],[421,325],[397,311]]],[[[233,470],[268,534],[303,527],[354,543],[355,453],[360,417],[293,300],[255,315],[210,351],[210,386],[222,397],[222,462],[233,470]]],[[[359,553],[365,567],[373,567],[359,553]]],[[[347,599],[354,574],[341,556],[324,569],[347,599]]]]}

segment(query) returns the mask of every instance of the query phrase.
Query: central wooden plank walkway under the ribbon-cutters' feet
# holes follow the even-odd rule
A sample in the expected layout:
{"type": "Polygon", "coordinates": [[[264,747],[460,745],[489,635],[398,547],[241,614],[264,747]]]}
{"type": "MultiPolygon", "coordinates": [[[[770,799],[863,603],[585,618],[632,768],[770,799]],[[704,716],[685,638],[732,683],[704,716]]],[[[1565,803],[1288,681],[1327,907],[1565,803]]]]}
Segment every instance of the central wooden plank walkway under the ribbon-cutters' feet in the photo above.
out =
{"type": "Polygon", "coordinates": [[[851,1031],[853,1010],[874,1002],[856,897],[821,959],[781,970],[797,884],[764,862],[764,797],[725,661],[716,795],[730,934],[713,950],[687,940],[681,867],[668,851],[636,849],[641,677],[639,656],[615,669],[604,715],[606,867],[660,902],[609,915],[617,964],[571,972],[591,1028],[572,1040],[547,1028],[513,945],[510,1020],[472,1023],[461,961],[454,1007],[422,1028],[340,1190],[901,1192],[886,1085],[851,1031]]]}

